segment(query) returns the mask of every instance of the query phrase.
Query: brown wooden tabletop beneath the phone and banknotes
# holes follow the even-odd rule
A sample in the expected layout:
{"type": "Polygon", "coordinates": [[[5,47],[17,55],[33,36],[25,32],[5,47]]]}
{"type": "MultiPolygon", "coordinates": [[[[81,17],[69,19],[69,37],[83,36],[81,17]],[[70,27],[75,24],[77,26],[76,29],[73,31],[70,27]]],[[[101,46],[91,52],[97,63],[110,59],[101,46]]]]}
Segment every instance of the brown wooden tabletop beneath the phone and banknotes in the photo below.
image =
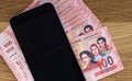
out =
{"type": "MultiPolygon", "coordinates": [[[[20,13],[32,0],[0,0],[0,32],[11,16],[20,13]]],[[[84,0],[101,24],[109,27],[124,70],[100,81],[132,81],[132,0],[84,0]]],[[[16,81],[0,57],[0,81],[16,81]]]]}

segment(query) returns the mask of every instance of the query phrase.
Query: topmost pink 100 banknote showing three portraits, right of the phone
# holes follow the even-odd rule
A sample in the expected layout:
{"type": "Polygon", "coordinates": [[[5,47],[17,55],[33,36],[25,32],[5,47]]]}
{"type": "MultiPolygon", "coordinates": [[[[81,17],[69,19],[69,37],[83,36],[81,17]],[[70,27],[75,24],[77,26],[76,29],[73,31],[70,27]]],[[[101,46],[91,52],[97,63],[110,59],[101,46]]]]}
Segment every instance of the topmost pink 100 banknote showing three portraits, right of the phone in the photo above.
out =
{"type": "Polygon", "coordinates": [[[123,69],[106,26],[76,37],[70,45],[86,81],[96,81],[123,69]]]}

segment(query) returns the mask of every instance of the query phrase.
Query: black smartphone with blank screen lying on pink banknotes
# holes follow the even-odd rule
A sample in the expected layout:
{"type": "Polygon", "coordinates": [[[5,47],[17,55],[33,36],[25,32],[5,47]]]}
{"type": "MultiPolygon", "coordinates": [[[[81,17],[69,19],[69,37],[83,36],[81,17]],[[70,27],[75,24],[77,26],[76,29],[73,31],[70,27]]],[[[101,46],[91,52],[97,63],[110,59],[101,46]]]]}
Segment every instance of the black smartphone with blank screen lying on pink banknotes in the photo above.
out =
{"type": "Polygon", "coordinates": [[[35,81],[85,81],[53,4],[13,16],[10,24],[35,81]]]}

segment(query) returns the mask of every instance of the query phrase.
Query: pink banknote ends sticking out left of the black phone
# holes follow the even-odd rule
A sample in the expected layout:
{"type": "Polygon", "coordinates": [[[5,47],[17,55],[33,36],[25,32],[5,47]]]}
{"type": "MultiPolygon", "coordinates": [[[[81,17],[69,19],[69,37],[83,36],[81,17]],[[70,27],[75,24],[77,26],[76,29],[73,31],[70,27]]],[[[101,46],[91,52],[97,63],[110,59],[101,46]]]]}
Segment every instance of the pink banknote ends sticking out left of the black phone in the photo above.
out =
{"type": "Polygon", "coordinates": [[[0,55],[18,81],[34,81],[11,27],[0,34],[0,55]]]}

